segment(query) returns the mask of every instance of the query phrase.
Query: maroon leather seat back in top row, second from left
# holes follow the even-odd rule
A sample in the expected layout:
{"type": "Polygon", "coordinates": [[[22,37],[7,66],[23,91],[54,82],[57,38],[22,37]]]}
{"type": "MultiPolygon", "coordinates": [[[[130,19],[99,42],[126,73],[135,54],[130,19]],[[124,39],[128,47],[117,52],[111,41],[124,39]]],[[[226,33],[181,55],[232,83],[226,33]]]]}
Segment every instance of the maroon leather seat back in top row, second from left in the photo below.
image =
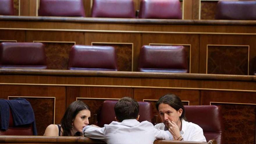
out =
{"type": "Polygon", "coordinates": [[[85,17],[83,0],[40,0],[38,15],[85,17]]]}

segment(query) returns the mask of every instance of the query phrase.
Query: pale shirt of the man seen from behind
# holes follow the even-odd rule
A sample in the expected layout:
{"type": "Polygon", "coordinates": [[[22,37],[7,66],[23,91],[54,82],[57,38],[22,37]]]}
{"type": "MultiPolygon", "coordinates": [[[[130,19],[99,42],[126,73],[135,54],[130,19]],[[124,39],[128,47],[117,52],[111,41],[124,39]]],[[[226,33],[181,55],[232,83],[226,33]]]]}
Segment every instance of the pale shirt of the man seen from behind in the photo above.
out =
{"type": "Polygon", "coordinates": [[[169,131],[154,128],[148,121],[136,119],[111,122],[102,128],[87,125],[84,136],[105,141],[107,144],[153,144],[157,139],[169,140],[169,131]]]}

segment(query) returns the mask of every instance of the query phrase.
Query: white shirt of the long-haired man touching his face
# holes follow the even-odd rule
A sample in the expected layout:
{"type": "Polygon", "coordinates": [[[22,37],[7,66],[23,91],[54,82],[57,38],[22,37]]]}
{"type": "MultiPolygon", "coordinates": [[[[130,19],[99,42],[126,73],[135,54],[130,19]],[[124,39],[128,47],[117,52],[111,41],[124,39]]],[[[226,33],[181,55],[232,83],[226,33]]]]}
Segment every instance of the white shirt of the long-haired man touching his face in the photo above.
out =
{"type": "MultiPolygon", "coordinates": [[[[163,123],[159,123],[154,127],[161,130],[168,130],[168,128],[163,123]]],[[[171,135],[171,133],[167,134],[170,134],[170,140],[173,140],[173,136],[171,135]]],[[[184,141],[206,142],[203,129],[198,125],[192,122],[187,122],[183,119],[180,134],[182,138],[184,138],[184,141]]]]}

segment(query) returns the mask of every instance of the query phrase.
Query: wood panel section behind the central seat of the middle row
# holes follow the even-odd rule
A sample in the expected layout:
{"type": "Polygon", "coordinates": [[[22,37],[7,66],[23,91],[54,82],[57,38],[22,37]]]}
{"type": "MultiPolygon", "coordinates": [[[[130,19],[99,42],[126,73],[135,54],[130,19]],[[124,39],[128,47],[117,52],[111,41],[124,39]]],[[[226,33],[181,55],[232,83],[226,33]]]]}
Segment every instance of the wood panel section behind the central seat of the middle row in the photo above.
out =
{"type": "MultiPolygon", "coordinates": [[[[141,35],[136,33],[85,33],[85,45],[92,43],[119,43],[107,44],[114,45],[117,48],[118,66],[120,70],[131,71],[131,58],[133,58],[133,71],[138,69],[138,55],[141,47],[141,35]],[[129,43],[129,44],[125,44],[129,43]],[[133,44],[133,45],[131,45],[133,44]],[[133,57],[131,57],[131,46],[133,46],[133,57]],[[128,63],[127,63],[128,62],[128,63]]],[[[95,44],[93,44],[95,45],[95,44]]],[[[98,44],[97,44],[98,45],[98,44]]],[[[103,45],[103,44],[102,44],[103,45]]]]}

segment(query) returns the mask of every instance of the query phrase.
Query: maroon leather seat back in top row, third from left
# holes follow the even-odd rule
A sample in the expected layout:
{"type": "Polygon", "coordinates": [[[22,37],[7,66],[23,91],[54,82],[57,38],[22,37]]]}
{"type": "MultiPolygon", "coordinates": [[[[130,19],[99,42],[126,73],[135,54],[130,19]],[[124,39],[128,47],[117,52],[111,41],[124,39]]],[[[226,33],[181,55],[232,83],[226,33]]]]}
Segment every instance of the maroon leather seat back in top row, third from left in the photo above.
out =
{"type": "Polygon", "coordinates": [[[135,18],[133,0],[93,0],[92,17],[135,18]]]}

